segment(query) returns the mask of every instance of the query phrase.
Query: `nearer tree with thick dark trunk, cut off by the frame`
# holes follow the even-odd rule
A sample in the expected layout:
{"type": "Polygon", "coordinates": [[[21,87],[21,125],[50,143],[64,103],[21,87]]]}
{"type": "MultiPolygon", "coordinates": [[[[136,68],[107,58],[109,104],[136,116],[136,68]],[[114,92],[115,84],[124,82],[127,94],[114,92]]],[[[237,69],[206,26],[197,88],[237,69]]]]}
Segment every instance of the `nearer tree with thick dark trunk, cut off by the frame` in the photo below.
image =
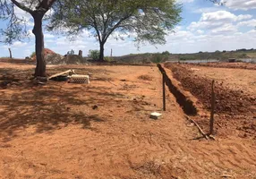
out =
{"type": "Polygon", "coordinates": [[[13,40],[22,40],[28,35],[27,19],[17,14],[17,8],[30,13],[34,20],[32,30],[36,38],[37,66],[35,77],[46,77],[46,62],[44,59],[43,18],[57,0],[0,0],[0,19],[7,22],[7,27],[1,30],[1,38],[5,43],[12,44],[13,40]],[[4,38],[3,38],[4,37],[4,38]]]}

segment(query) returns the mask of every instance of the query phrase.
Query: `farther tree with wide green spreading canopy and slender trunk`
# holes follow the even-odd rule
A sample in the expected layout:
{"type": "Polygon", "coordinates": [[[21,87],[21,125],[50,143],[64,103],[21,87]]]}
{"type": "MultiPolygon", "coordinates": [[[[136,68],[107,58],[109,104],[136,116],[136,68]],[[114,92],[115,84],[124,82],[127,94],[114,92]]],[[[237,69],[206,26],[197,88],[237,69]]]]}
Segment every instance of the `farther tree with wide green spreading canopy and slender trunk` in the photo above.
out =
{"type": "Polygon", "coordinates": [[[48,30],[72,37],[90,30],[99,42],[99,61],[104,61],[104,45],[114,31],[133,34],[138,43],[165,44],[167,31],[181,21],[175,0],[61,0],[53,9],[48,30]]]}

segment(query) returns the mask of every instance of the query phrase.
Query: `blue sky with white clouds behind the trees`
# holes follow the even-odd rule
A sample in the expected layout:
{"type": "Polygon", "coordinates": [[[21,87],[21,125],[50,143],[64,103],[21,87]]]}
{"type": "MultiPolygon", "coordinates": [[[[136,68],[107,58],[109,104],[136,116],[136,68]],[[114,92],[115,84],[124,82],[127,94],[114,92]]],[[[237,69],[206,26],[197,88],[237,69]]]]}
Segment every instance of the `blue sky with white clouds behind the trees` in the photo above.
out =
{"type": "MultiPolygon", "coordinates": [[[[223,0],[224,1],[224,0],[223,0]]],[[[166,36],[163,46],[149,44],[135,46],[132,38],[123,35],[124,40],[116,40],[118,32],[108,38],[105,55],[129,55],[139,53],[155,53],[169,51],[173,54],[214,52],[216,50],[236,50],[240,48],[256,48],[256,0],[225,0],[226,4],[218,5],[208,0],[178,0],[183,4],[183,20],[175,27],[174,32],[166,36]]],[[[34,37],[31,33],[33,23],[30,14],[16,11],[29,21],[30,38],[24,41],[14,41],[13,45],[0,44],[0,56],[8,56],[8,47],[12,48],[13,57],[23,58],[35,51],[34,37]]],[[[0,21],[0,29],[4,28],[0,21]]],[[[84,30],[73,41],[64,36],[56,36],[44,30],[45,47],[55,53],[65,55],[68,51],[79,50],[88,55],[90,49],[98,49],[98,42],[91,37],[90,31],[84,30]]]]}

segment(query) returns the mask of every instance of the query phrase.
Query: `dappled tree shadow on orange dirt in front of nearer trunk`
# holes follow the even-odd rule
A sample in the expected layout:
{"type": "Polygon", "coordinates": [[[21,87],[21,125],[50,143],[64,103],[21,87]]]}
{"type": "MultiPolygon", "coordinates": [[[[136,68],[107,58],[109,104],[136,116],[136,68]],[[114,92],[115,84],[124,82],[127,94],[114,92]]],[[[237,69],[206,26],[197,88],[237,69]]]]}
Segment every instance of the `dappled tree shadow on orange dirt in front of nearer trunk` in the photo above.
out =
{"type": "Polygon", "coordinates": [[[38,133],[54,132],[69,124],[93,130],[91,122],[102,123],[107,119],[90,114],[91,106],[104,102],[104,98],[123,96],[102,87],[74,85],[63,88],[64,83],[49,81],[45,86],[26,83],[0,90],[0,136],[5,141],[12,140],[19,131],[30,126],[38,133]]]}

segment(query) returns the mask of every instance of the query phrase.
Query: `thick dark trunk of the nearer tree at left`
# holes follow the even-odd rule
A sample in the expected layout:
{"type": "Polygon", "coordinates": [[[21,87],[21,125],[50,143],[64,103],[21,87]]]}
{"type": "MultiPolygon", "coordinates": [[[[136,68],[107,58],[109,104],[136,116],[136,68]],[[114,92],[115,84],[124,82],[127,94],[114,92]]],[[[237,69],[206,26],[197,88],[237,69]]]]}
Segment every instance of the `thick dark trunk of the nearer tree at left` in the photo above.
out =
{"type": "Polygon", "coordinates": [[[34,29],[32,30],[36,38],[36,56],[37,67],[35,70],[35,77],[47,77],[46,61],[44,54],[44,34],[42,29],[42,20],[45,13],[35,12],[32,16],[34,18],[34,29]]]}

